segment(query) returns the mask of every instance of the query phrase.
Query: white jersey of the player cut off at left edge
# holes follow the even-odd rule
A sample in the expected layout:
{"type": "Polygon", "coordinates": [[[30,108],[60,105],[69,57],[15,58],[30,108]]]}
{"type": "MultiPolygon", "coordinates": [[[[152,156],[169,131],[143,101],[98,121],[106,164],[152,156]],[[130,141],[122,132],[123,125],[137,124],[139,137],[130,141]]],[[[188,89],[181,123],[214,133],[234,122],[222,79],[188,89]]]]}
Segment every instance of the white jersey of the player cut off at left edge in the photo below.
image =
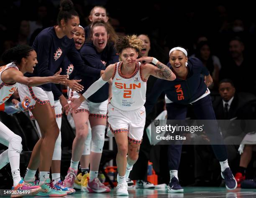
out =
{"type": "Polygon", "coordinates": [[[17,83],[14,83],[13,85],[8,85],[3,83],[2,81],[2,73],[3,71],[8,69],[19,70],[19,68],[14,63],[9,63],[8,65],[0,67],[0,105],[5,103],[5,101],[8,100],[8,98],[10,98],[10,96],[13,95],[13,92],[16,90],[17,83]]]}

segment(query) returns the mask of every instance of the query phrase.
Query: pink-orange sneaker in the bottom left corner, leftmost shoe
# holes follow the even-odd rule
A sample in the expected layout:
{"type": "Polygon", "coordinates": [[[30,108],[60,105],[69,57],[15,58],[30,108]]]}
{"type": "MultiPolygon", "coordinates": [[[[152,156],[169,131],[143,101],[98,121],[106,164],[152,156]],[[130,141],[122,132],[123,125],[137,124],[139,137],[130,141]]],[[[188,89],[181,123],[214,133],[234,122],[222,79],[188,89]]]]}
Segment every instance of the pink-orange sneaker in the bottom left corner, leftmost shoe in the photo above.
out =
{"type": "Polygon", "coordinates": [[[20,183],[18,183],[18,185],[16,185],[15,187],[13,186],[12,190],[15,193],[11,194],[11,198],[23,197],[26,195],[37,194],[41,190],[41,187],[39,185],[31,185],[31,184],[25,183],[23,180],[20,180],[20,183]]]}

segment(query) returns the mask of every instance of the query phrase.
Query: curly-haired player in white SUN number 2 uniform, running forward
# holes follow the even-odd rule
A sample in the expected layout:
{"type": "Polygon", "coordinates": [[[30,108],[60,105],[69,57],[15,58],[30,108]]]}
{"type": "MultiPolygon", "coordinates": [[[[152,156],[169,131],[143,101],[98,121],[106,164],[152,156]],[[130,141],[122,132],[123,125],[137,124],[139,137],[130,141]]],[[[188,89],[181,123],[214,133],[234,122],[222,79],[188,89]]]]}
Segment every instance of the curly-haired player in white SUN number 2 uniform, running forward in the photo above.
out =
{"type": "Polygon", "coordinates": [[[138,159],[145,125],[146,80],[150,75],[156,78],[174,80],[172,71],[156,58],[138,57],[142,41],[136,35],[125,36],[116,43],[121,62],[109,65],[100,79],[93,83],[79,98],[71,98],[68,110],[75,112],[81,103],[100,89],[111,78],[112,98],[108,105],[108,134],[115,136],[118,146],[117,195],[128,195],[126,177],[138,159]],[[144,65],[136,61],[142,61],[144,65]],[[147,63],[154,63],[156,67],[147,63]],[[111,132],[110,132],[111,131],[111,132]],[[110,133],[109,133],[110,132],[110,133]],[[126,155],[128,153],[128,157],[126,155]],[[128,170],[128,171],[126,171],[128,170]],[[126,177],[125,177],[126,176],[126,177]]]}

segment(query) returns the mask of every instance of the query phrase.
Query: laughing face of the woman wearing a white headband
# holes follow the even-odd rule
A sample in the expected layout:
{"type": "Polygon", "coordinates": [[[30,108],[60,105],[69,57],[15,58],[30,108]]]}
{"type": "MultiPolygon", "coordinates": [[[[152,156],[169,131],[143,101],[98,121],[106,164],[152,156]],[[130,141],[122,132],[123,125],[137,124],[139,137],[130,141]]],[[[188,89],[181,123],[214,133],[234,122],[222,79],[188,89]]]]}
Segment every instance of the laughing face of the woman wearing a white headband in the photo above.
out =
{"type": "Polygon", "coordinates": [[[174,50],[170,54],[169,62],[175,73],[182,74],[186,71],[187,56],[182,51],[174,50]]]}

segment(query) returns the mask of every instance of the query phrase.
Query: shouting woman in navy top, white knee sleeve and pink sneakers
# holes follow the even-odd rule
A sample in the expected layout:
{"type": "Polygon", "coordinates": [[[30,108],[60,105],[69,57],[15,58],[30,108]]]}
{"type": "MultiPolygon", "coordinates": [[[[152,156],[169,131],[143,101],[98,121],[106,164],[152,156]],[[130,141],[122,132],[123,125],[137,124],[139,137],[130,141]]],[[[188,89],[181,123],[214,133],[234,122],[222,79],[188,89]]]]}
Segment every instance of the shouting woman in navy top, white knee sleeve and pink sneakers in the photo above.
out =
{"type": "MultiPolygon", "coordinates": [[[[100,70],[105,70],[107,65],[118,61],[118,55],[116,55],[113,44],[111,43],[110,45],[108,41],[110,40],[110,35],[108,33],[108,28],[103,21],[93,23],[90,38],[91,42],[84,44],[80,50],[82,59],[87,65],[100,70]]],[[[97,81],[97,78],[95,77],[83,78],[82,76],[79,76],[77,78],[82,78],[81,84],[84,86],[85,90],[89,88],[92,83],[97,81]]],[[[72,90],[69,96],[70,98],[79,98],[81,94],[72,90]]],[[[74,175],[77,173],[77,166],[82,155],[84,140],[88,133],[88,120],[90,120],[92,128],[90,181],[87,184],[87,188],[82,186],[81,190],[86,190],[89,193],[110,192],[110,189],[100,183],[100,180],[97,178],[105,140],[108,98],[109,87],[107,83],[97,90],[96,93],[91,95],[88,100],[84,101],[78,110],[73,113],[74,123],[76,125],[76,138],[74,139],[72,147],[71,166],[64,181],[70,188],[72,188],[74,184],[74,175]]]]}

